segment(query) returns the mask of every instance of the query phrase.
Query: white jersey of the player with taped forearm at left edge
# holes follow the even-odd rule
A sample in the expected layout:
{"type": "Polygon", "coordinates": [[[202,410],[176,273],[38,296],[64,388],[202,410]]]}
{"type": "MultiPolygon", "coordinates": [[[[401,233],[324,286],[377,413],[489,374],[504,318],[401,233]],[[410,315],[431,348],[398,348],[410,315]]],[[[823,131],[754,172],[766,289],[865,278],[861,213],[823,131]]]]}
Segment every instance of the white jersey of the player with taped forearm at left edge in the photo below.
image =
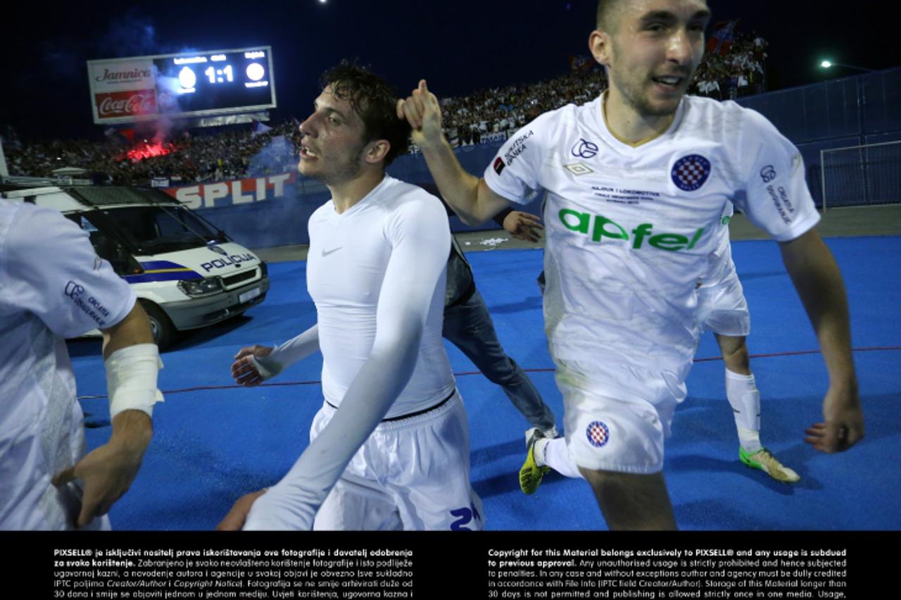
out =
{"type": "Polygon", "coordinates": [[[134,302],[75,223],[0,199],[0,529],[71,526],[50,486],[85,444],[63,338],[112,327],[134,302]]]}

